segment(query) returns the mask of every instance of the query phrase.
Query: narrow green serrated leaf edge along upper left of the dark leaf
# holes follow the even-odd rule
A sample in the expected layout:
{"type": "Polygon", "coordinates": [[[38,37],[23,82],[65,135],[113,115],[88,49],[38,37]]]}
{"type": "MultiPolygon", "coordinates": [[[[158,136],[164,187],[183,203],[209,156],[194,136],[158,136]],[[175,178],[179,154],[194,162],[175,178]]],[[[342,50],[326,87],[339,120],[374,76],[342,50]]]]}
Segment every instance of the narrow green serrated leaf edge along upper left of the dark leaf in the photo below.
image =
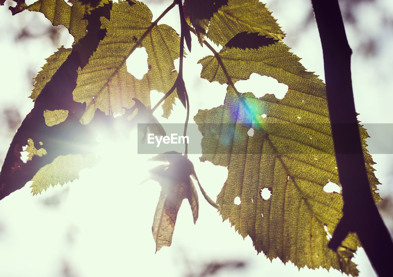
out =
{"type": "Polygon", "coordinates": [[[71,48],[64,48],[61,46],[56,53],[46,59],[46,64],[42,67],[42,70],[34,77],[34,87],[29,96],[35,101],[41,90],[44,88],[46,83],[50,81],[53,74],[59,69],[64,61],[66,61],[68,55],[71,53],[71,48]]]}

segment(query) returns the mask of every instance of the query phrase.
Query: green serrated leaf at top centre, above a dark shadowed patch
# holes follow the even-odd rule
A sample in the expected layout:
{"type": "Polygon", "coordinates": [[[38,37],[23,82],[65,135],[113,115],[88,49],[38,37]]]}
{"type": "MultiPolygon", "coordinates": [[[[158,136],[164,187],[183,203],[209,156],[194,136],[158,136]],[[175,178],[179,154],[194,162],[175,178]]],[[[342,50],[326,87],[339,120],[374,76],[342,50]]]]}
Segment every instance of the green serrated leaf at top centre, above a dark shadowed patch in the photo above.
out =
{"type": "Polygon", "coordinates": [[[259,1],[229,0],[228,6],[222,6],[213,14],[208,38],[217,45],[225,45],[237,33],[249,31],[281,40],[285,34],[271,14],[259,1]]]}

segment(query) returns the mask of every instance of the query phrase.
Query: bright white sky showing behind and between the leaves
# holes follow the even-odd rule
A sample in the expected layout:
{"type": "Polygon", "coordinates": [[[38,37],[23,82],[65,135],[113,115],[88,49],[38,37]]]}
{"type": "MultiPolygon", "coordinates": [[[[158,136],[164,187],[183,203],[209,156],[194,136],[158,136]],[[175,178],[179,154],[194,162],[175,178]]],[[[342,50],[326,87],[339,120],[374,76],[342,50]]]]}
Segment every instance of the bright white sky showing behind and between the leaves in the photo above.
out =
{"type": "MultiPolygon", "coordinates": [[[[146,1],[154,18],[171,1],[163,2],[165,4],[146,1]]],[[[310,2],[267,2],[287,33],[284,42],[303,58],[301,62],[307,69],[315,71],[323,79],[323,60],[315,23],[301,33],[295,31],[296,24],[300,24],[299,18],[310,11],[310,2]]],[[[384,9],[390,19],[393,18],[393,7],[388,0],[380,0],[378,5],[366,2],[357,11],[361,28],[347,28],[349,44],[354,50],[356,109],[360,113],[359,119],[366,123],[393,123],[390,107],[393,40],[391,32],[384,31],[389,22],[380,20],[380,9],[384,9]],[[365,58],[357,52],[361,38],[364,33],[373,35],[375,32],[378,34],[375,35],[378,53],[376,57],[365,58]]],[[[180,33],[177,9],[173,9],[160,23],[167,23],[180,33]]],[[[47,37],[15,39],[21,26],[27,26],[33,33],[39,34],[43,26],[48,25],[49,21],[39,13],[26,11],[12,17],[6,7],[0,7],[0,116],[4,108],[15,108],[23,119],[33,107],[28,98],[32,84],[29,78],[40,70],[44,59],[57,47],[62,44],[71,46],[72,38],[64,31],[58,37],[57,46],[53,46],[47,37]]],[[[192,47],[193,51],[185,59],[184,65],[191,121],[198,109],[221,105],[226,91],[225,86],[210,84],[199,78],[202,66],[196,63],[210,53],[206,48],[201,49],[195,38],[192,47]]],[[[134,53],[130,59],[138,57],[146,59],[143,53],[134,53]]],[[[139,71],[146,72],[147,66],[143,62],[139,71]]],[[[279,98],[287,89],[274,79],[259,75],[238,82],[237,88],[240,92],[251,91],[256,96],[275,93],[279,98]]],[[[152,103],[156,103],[161,96],[152,94],[152,103]]],[[[176,104],[173,116],[168,121],[162,119],[163,123],[184,122],[185,110],[180,102],[176,104]]],[[[159,108],[155,115],[160,117],[161,114],[159,108]]],[[[0,119],[4,120],[3,117],[0,119]]],[[[0,125],[0,158],[4,158],[13,135],[6,126],[0,125]]],[[[134,134],[131,137],[135,137],[134,134]]],[[[147,156],[135,158],[135,150],[130,147],[134,145],[132,139],[131,142],[121,142],[124,144],[115,143],[109,145],[109,150],[100,152],[108,157],[107,162],[82,171],[80,180],[50,188],[34,197],[29,185],[26,185],[0,202],[0,276],[187,276],[200,272],[203,265],[211,261],[232,260],[244,261],[246,267],[222,270],[217,276],[342,276],[338,271],[298,270],[292,264],[283,265],[279,260],[270,262],[263,254],[256,255],[251,239],[247,237],[243,240],[228,221],[223,223],[202,195],[196,225],[193,224],[188,204],[184,203],[178,214],[172,246],[154,254],[151,226],[160,186],[153,181],[142,182],[147,178],[147,169],[156,163],[145,162],[147,156]],[[44,205],[44,202],[56,199],[60,201],[59,205],[44,205]]],[[[209,162],[200,163],[199,156],[190,155],[190,160],[195,165],[202,186],[215,198],[228,171],[209,162]]],[[[389,187],[392,183],[390,167],[393,157],[379,154],[373,155],[373,158],[378,163],[375,165],[378,170],[376,176],[384,184],[380,186],[384,197],[392,193],[389,187]]],[[[391,220],[388,224],[393,226],[391,220]]],[[[355,262],[359,264],[360,276],[373,276],[363,251],[359,252],[355,262]]]]}

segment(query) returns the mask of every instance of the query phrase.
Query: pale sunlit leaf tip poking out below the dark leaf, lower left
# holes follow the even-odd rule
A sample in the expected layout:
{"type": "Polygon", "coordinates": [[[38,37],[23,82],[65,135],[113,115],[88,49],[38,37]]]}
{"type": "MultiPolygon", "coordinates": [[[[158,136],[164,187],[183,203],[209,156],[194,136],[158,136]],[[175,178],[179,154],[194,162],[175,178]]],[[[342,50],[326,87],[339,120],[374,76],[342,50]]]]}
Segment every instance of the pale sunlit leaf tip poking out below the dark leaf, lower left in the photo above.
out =
{"type": "Polygon", "coordinates": [[[84,168],[93,167],[95,158],[93,155],[67,155],[55,158],[53,162],[42,167],[34,175],[31,193],[41,194],[48,187],[79,179],[79,172],[84,168]]]}

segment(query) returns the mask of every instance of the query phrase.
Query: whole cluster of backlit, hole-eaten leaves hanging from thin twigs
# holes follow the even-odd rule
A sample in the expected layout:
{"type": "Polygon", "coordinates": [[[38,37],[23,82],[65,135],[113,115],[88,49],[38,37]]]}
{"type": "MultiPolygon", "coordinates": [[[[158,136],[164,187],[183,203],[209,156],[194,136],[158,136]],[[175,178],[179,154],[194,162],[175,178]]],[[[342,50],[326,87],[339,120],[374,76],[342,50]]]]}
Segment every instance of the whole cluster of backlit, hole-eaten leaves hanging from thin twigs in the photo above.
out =
{"type": "MultiPolygon", "coordinates": [[[[3,4],[3,3],[2,3],[3,4]]],[[[200,110],[194,120],[203,134],[203,161],[228,168],[228,179],[214,202],[202,189],[193,164],[184,154],[165,152],[155,160],[167,162],[151,170],[162,186],[154,215],[152,234],[156,251],[170,246],[176,216],[187,199],[194,223],[198,218],[198,193],[229,219],[242,237],[250,236],[258,252],[278,257],[299,268],[334,268],[357,275],[352,262],[360,246],[349,235],[338,248],[327,248],[342,216],[342,194],[325,193],[327,182],[339,184],[332,142],[325,84],[299,62],[283,42],[271,12],[255,0],[175,0],[154,21],[150,9],[136,0],[18,1],[13,14],[39,11],[53,26],[64,25],[75,38],[72,48],[61,47],[47,59],[35,77],[31,98],[35,106],[15,135],[0,175],[0,198],[33,181],[33,194],[50,185],[78,178],[91,167],[94,126],[111,133],[115,121],[129,131],[136,123],[148,123],[151,132],[165,134],[152,112],[162,105],[163,117],[171,115],[178,97],[187,109],[189,100],[183,79],[184,42],[191,52],[191,35],[212,55],[199,60],[200,76],[227,85],[221,106],[200,110]],[[179,8],[181,34],[159,21],[179,8]],[[221,45],[217,52],[209,44],[221,45]],[[141,80],[127,72],[126,60],[137,49],[147,51],[149,71],[141,80]],[[179,59],[179,70],[174,62],[179,59]],[[240,93],[235,84],[252,73],[273,77],[288,86],[283,99],[274,94],[257,98],[240,93]],[[164,95],[151,108],[150,92],[164,95]],[[121,115],[114,118],[114,115],[121,115]],[[262,117],[266,115],[266,117],[262,117]],[[253,128],[253,136],[248,135],[253,128]],[[28,163],[20,160],[28,141],[28,163]],[[41,149],[34,143],[39,142],[41,149]],[[269,199],[261,196],[269,189],[269,199]],[[239,197],[241,204],[235,204],[239,197]]],[[[379,183],[373,160],[365,149],[367,132],[359,125],[364,159],[373,197],[379,183]]],[[[147,130],[144,130],[146,134],[147,130]]]]}

